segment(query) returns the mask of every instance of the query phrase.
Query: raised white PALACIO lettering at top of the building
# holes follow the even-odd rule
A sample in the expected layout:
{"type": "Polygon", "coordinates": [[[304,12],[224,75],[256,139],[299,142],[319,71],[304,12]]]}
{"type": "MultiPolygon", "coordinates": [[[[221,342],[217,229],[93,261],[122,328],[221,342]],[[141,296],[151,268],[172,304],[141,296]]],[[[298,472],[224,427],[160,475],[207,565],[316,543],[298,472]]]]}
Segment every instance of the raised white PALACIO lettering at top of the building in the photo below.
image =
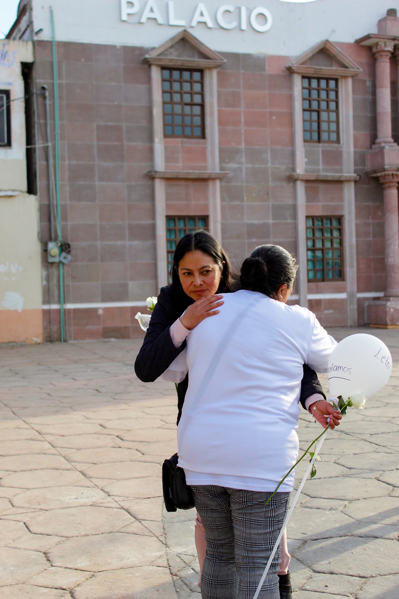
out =
{"type": "Polygon", "coordinates": [[[227,29],[228,31],[238,27],[241,31],[246,31],[249,21],[252,29],[259,33],[269,31],[273,23],[272,15],[264,7],[248,10],[246,6],[234,7],[232,4],[223,4],[212,14],[206,8],[205,2],[197,4],[190,22],[186,22],[185,19],[181,19],[179,14],[175,13],[175,2],[173,0],[168,1],[166,4],[167,15],[164,16],[159,10],[156,0],[147,0],[143,7],[139,0],[120,0],[121,20],[128,21],[130,15],[141,13],[138,21],[140,25],[145,25],[151,19],[156,21],[158,25],[194,28],[199,23],[205,23],[208,29],[213,29],[215,27],[214,23],[217,23],[221,29],[227,29]]]}

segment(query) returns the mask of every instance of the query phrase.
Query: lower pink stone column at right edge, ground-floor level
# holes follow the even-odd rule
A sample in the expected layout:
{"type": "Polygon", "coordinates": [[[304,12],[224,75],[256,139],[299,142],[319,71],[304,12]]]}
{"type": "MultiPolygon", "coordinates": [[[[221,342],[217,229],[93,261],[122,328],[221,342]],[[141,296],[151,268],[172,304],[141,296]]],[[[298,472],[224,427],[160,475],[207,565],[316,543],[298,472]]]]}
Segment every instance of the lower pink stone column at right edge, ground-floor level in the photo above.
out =
{"type": "Polygon", "coordinates": [[[399,173],[381,174],[379,180],[384,193],[385,297],[399,297],[399,173]]]}

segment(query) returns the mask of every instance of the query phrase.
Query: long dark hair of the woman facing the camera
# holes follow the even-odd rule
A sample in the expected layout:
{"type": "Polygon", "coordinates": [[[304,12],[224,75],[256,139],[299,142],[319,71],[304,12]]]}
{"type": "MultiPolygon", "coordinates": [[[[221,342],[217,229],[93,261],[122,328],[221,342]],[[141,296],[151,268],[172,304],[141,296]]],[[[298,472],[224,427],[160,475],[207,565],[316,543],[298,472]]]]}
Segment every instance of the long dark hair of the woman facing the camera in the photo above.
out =
{"type": "Polygon", "coordinates": [[[172,285],[175,289],[176,299],[179,299],[180,301],[183,299],[188,301],[189,299],[181,286],[178,267],[179,262],[187,252],[194,252],[195,250],[200,250],[200,252],[208,255],[220,268],[222,276],[217,293],[221,294],[235,291],[237,282],[232,265],[230,264],[229,256],[224,252],[223,247],[221,247],[220,243],[213,235],[208,233],[208,231],[199,229],[198,231],[193,231],[192,233],[184,235],[177,244],[175,254],[173,255],[173,266],[170,269],[170,276],[172,277],[172,285]],[[225,263],[224,266],[222,265],[223,262],[225,263]]]}

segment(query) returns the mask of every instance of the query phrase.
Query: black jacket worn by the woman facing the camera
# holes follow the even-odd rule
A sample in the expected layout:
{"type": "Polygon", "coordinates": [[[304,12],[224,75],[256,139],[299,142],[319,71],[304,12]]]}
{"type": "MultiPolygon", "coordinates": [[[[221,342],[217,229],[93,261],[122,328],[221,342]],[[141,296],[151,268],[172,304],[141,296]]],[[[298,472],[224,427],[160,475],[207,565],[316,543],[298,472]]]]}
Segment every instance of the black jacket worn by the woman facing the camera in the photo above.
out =
{"type": "MultiPolygon", "coordinates": [[[[144,383],[152,383],[161,376],[172,364],[179,353],[184,350],[185,341],[180,347],[175,347],[170,337],[170,325],[178,319],[184,310],[193,304],[194,300],[187,295],[176,297],[172,285],[163,287],[158,296],[158,302],[151,316],[150,326],[145,334],[143,344],[135,362],[135,372],[144,383]]],[[[179,423],[184,397],[188,387],[188,376],[178,383],[178,417],[179,423]]],[[[306,364],[303,365],[303,379],[301,384],[300,402],[305,407],[305,401],[314,393],[323,393],[321,383],[314,370],[306,364]]]]}

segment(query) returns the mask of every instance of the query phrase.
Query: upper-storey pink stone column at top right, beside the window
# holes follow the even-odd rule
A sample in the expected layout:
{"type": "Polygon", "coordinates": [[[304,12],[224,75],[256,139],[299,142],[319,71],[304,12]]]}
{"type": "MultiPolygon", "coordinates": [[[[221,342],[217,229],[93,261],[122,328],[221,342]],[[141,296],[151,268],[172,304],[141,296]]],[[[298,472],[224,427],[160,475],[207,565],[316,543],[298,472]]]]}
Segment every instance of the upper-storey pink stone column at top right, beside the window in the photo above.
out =
{"type": "Polygon", "coordinates": [[[376,144],[392,144],[391,74],[389,59],[394,51],[392,41],[379,41],[372,47],[376,59],[377,139],[376,144]]]}

